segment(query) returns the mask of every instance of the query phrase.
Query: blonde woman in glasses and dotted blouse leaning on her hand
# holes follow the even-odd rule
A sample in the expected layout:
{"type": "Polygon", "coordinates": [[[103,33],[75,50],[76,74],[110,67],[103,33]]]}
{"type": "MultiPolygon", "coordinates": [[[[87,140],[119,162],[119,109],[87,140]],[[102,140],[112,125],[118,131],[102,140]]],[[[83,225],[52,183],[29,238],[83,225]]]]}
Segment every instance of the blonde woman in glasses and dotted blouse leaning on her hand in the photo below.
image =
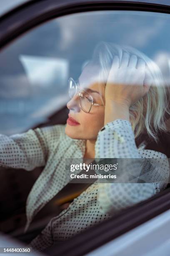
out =
{"type": "MultiPolygon", "coordinates": [[[[25,231],[37,212],[71,180],[66,177],[65,159],[163,160],[155,166],[154,173],[149,172],[150,183],[94,182],[50,220],[31,242],[34,249],[41,251],[65,241],[165,189],[169,177],[167,157],[135,144],[144,129],[155,141],[158,131],[166,131],[168,101],[165,88],[160,86],[162,81],[159,68],[144,54],[128,46],[101,42],[79,77],[80,88],[70,79],[72,98],[67,103],[70,112],[66,125],[1,136],[1,166],[28,171],[45,166],[27,199],[25,231]],[[155,174],[158,182],[154,182],[155,174]]],[[[132,171],[138,172],[138,165],[133,164],[132,171]]],[[[75,174],[79,172],[76,170],[75,174]]]]}

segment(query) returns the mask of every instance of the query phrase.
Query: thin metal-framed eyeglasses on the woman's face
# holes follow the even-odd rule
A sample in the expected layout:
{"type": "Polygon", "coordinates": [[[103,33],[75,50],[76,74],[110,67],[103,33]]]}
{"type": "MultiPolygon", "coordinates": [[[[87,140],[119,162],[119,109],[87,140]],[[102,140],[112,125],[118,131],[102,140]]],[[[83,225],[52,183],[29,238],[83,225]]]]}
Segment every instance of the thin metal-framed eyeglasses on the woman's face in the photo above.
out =
{"type": "Polygon", "coordinates": [[[79,107],[82,111],[85,113],[89,113],[90,109],[93,106],[104,106],[98,103],[93,102],[93,97],[86,91],[80,90],[80,85],[77,81],[75,81],[72,77],[68,80],[69,82],[69,96],[72,99],[72,97],[78,93],[79,95],[79,107]]]}

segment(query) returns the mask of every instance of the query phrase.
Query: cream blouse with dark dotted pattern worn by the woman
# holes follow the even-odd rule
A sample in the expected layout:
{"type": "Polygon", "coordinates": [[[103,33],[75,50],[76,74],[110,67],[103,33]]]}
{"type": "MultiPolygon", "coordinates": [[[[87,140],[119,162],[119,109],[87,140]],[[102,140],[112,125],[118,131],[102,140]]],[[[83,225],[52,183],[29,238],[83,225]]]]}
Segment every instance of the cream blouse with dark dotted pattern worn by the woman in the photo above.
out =
{"type": "MultiPolygon", "coordinates": [[[[65,125],[30,129],[12,136],[0,135],[0,166],[28,171],[45,166],[27,198],[25,232],[37,212],[70,182],[71,178],[68,180],[65,173],[65,159],[82,159],[84,154],[85,140],[68,137],[65,125]]],[[[148,199],[168,184],[167,157],[160,152],[137,148],[132,126],[127,120],[114,120],[99,131],[95,158],[159,158],[162,161],[152,171],[147,171],[150,183],[98,183],[96,180],[32,240],[30,246],[35,250],[65,241],[109,219],[115,212],[148,199]],[[155,182],[155,176],[159,182],[155,182]]],[[[138,176],[138,163],[132,164],[131,169],[138,176]]],[[[80,170],[75,170],[74,174],[78,173],[80,170]]]]}

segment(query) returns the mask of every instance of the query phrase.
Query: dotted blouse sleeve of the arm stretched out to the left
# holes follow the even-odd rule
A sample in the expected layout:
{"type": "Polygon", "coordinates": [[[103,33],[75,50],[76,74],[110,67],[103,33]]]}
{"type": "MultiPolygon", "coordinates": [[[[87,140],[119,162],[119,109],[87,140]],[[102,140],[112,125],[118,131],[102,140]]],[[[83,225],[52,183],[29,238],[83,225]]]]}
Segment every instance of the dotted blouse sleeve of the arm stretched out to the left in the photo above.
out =
{"type": "Polygon", "coordinates": [[[25,133],[0,134],[0,166],[27,171],[45,166],[50,149],[59,141],[62,125],[29,129],[25,133]]]}

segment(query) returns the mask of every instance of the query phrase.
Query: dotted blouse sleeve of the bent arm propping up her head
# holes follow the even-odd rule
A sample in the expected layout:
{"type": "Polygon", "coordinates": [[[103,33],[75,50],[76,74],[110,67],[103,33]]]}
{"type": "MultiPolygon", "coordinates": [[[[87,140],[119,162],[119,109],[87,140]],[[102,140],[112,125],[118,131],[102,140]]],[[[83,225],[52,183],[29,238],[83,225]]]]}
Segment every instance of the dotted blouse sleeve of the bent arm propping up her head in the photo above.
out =
{"type": "MultiPolygon", "coordinates": [[[[152,197],[167,186],[169,178],[167,157],[160,152],[153,151],[156,154],[153,154],[151,158],[159,157],[161,161],[157,161],[155,168],[152,171],[147,170],[147,175],[143,175],[140,173],[141,168],[139,168],[141,158],[150,158],[150,155],[145,152],[146,150],[142,151],[143,154],[135,144],[135,136],[128,120],[117,119],[107,123],[98,133],[95,143],[96,159],[123,158],[124,165],[122,164],[122,166],[125,168],[124,171],[129,168],[129,166],[126,166],[125,159],[135,159],[130,165],[131,173],[136,177],[138,176],[138,178],[142,177],[141,179],[143,180],[147,177],[144,183],[99,183],[97,201],[103,213],[113,214],[130,207],[152,197]],[[155,176],[157,182],[154,182],[155,176]]],[[[143,173],[145,173],[145,170],[143,173]]]]}

